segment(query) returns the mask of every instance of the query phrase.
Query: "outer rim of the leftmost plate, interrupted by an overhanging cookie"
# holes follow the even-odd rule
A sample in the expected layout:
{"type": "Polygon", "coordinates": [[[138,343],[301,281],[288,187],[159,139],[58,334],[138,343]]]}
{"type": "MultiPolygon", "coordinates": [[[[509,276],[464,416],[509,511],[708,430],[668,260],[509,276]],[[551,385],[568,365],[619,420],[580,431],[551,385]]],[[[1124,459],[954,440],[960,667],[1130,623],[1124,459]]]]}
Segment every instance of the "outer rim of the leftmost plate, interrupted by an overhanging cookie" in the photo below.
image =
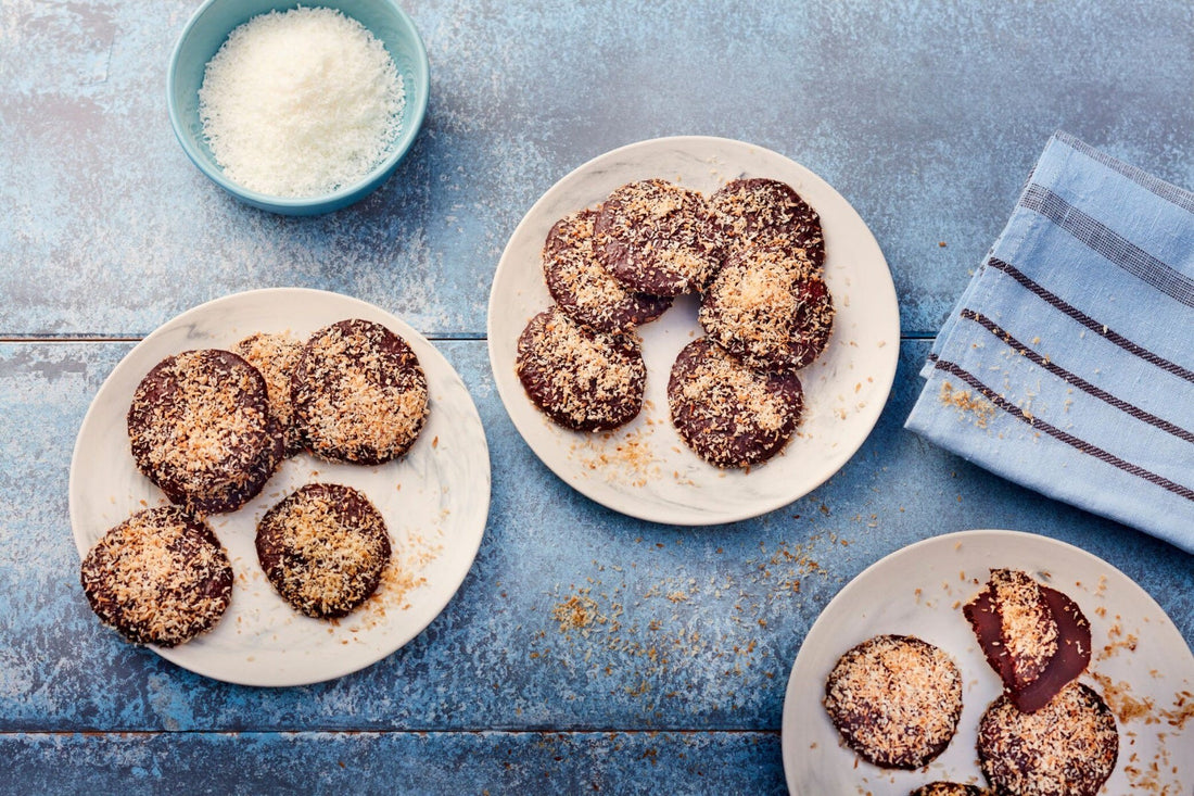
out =
{"type": "MultiPolygon", "coordinates": [[[[485,425],[481,422],[480,412],[476,408],[476,402],[473,400],[472,393],[469,393],[468,391],[468,385],[464,384],[464,380],[461,378],[460,373],[456,371],[455,367],[453,367],[451,362],[448,361],[448,359],[439,351],[439,349],[431,343],[430,339],[427,339],[421,332],[411,326],[411,324],[408,324],[407,322],[399,318],[393,312],[389,312],[388,310],[384,310],[373,302],[365,301],[357,296],[337,293],[334,290],[322,290],[318,288],[304,288],[304,287],[254,288],[250,290],[229,293],[222,296],[217,296],[215,299],[209,299],[208,301],[195,305],[193,307],[184,310],[183,312],[168,318],[167,320],[162,322],[156,327],[154,327],[143,338],[137,341],[136,344],[133,345],[133,348],[130,348],[123,356],[121,356],[119,361],[112,367],[112,369],[104,378],[104,381],[100,384],[99,388],[96,391],[96,394],[92,397],[86,412],[84,412],[82,421],[79,423],[79,430],[75,434],[75,442],[72,449],[70,465],[68,470],[67,508],[70,521],[70,532],[72,537],[74,538],[75,547],[79,552],[80,561],[87,555],[87,551],[90,550],[90,546],[85,544],[82,534],[79,529],[81,523],[79,513],[82,509],[79,506],[79,502],[81,500],[79,490],[81,489],[81,486],[78,485],[79,476],[76,476],[76,473],[79,472],[80,457],[82,455],[81,443],[85,436],[85,430],[94,422],[98,422],[97,420],[94,420],[96,417],[98,417],[97,412],[100,411],[99,409],[97,409],[97,406],[99,406],[99,404],[101,403],[100,399],[104,397],[104,394],[109,390],[115,388],[110,386],[113,384],[113,379],[123,372],[122,371],[123,368],[131,367],[130,365],[127,363],[130,362],[131,360],[135,360],[135,355],[137,355],[140,351],[150,348],[158,337],[167,333],[170,330],[177,327],[178,325],[185,325],[189,320],[191,320],[196,316],[202,317],[204,313],[210,312],[213,308],[216,308],[224,304],[236,304],[240,301],[254,300],[266,295],[278,295],[278,294],[304,296],[315,300],[331,299],[333,301],[343,302],[345,305],[356,305],[356,307],[367,310],[369,313],[383,316],[387,320],[394,322],[398,325],[398,329],[394,330],[395,332],[401,332],[402,335],[410,333],[418,344],[425,345],[430,351],[432,351],[435,357],[439,361],[437,362],[437,365],[442,365],[445,368],[444,374],[448,378],[458,382],[458,386],[463,391],[463,394],[468,398],[468,408],[472,410],[473,415],[472,420],[475,421],[476,427],[481,431],[478,435],[476,440],[479,442],[479,447],[474,453],[484,454],[485,457],[485,466],[479,467],[479,471],[484,473],[485,477],[484,477],[484,484],[482,483],[469,484],[469,488],[473,490],[481,490],[484,488],[484,495],[480,495],[482,500],[478,501],[478,506],[481,507],[481,509],[478,512],[481,515],[479,518],[480,529],[479,532],[470,534],[468,537],[469,544],[454,545],[454,550],[457,551],[457,553],[463,553],[463,556],[460,557],[462,568],[461,569],[462,575],[460,582],[457,582],[454,586],[454,588],[445,589],[443,598],[441,600],[435,600],[429,604],[432,610],[427,612],[426,622],[414,623],[410,625],[406,632],[400,633],[400,636],[405,636],[402,641],[400,641],[396,645],[393,647],[389,644],[384,645],[384,649],[387,651],[383,651],[380,655],[371,657],[371,660],[353,661],[346,666],[336,667],[334,669],[327,669],[326,673],[315,676],[296,674],[287,679],[279,679],[277,676],[254,678],[251,675],[229,678],[219,674],[213,674],[209,669],[204,667],[190,666],[185,661],[186,657],[185,644],[179,644],[178,647],[173,648],[165,648],[158,644],[141,645],[144,647],[146,649],[154,651],[160,657],[170,661],[174,666],[186,669],[187,672],[191,672],[193,674],[198,674],[201,676],[205,676],[211,680],[221,682],[230,682],[234,685],[244,685],[253,687],[294,687],[294,686],[304,686],[304,685],[313,685],[318,682],[336,680],[346,676],[349,674],[352,674],[355,672],[367,669],[370,666],[378,663],[380,661],[384,660],[386,657],[400,650],[402,647],[406,647],[408,643],[411,643],[411,641],[418,637],[419,633],[426,630],[426,627],[443,613],[443,611],[448,607],[448,605],[456,596],[456,594],[460,593],[461,587],[468,578],[468,574],[473,570],[473,567],[476,563],[476,556],[479,555],[481,544],[484,543],[485,532],[488,528],[488,519],[490,519],[490,513],[492,510],[492,500],[493,500],[492,458],[490,455],[490,449],[488,449],[488,437],[485,434],[485,425]],[[466,559],[467,559],[467,565],[464,565],[466,559]],[[184,654],[179,655],[178,654],[179,650],[181,650],[184,654]]],[[[129,466],[135,467],[131,460],[129,461],[129,466]]],[[[369,656],[365,656],[365,659],[369,659],[369,656]]]]}

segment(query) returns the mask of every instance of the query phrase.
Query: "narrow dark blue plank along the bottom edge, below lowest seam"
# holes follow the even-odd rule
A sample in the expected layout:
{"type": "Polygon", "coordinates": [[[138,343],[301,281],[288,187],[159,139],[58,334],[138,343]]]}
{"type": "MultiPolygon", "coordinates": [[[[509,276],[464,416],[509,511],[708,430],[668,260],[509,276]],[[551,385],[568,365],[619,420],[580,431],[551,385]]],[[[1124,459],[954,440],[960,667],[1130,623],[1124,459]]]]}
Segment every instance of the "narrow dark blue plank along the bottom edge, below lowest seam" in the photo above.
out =
{"type": "Polygon", "coordinates": [[[774,733],[56,735],[0,754],[13,794],[787,792],[774,733]]]}

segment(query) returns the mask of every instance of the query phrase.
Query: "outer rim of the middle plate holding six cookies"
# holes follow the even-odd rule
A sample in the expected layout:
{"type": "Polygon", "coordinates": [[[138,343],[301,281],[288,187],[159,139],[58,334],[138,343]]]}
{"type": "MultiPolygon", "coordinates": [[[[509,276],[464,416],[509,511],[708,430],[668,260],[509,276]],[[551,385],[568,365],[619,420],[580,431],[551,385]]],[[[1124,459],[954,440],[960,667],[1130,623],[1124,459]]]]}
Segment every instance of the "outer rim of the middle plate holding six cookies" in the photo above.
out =
{"type": "Polygon", "coordinates": [[[867,439],[869,439],[875,425],[878,425],[879,423],[879,418],[881,417],[884,409],[891,400],[891,392],[892,387],[894,386],[896,373],[899,366],[899,350],[900,350],[899,343],[900,343],[899,296],[896,292],[894,277],[891,271],[891,265],[887,263],[887,258],[882,253],[882,249],[880,247],[879,241],[875,238],[874,233],[872,232],[870,227],[866,224],[866,221],[862,219],[861,214],[858,214],[858,212],[854,208],[854,206],[820,174],[780,152],[776,152],[762,145],[751,143],[749,141],[741,141],[738,139],[730,139],[724,136],[712,136],[712,135],[660,136],[660,137],[645,139],[630,143],[624,143],[585,160],[579,166],[576,166],[566,174],[556,179],[543,194],[541,194],[535,200],[535,202],[530,206],[530,208],[527,209],[522,219],[518,221],[513,231],[510,233],[510,237],[507,238],[506,244],[503,247],[501,256],[498,261],[498,265],[493,273],[493,278],[490,287],[488,305],[486,310],[486,347],[488,349],[490,368],[493,372],[493,380],[494,384],[497,385],[498,396],[501,399],[503,409],[505,410],[506,416],[515,425],[515,429],[518,431],[518,435],[522,437],[523,442],[531,449],[531,452],[536,455],[536,458],[543,465],[546,465],[548,470],[550,470],[566,485],[580,492],[581,495],[593,501],[595,503],[604,506],[608,509],[615,510],[620,514],[623,514],[633,519],[645,520],[648,522],[659,522],[663,525],[670,525],[675,527],[700,527],[700,526],[721,525],[721,523],[738,522],[741,520],[753,519],[763,514],[767,514],[769,512],[780,509],[784,506],[789,506],[790,503],[811,494],[812,491],[821,486],[825,482],[827,482],[830,478],[832,478],[835,474],[837,474],[842,470],[842,467],[844,467],[850,461],[850,459],[853,459],[854,455],[862,448],[867,439]],[[881,290],[884,293],[885,300],[890,299],[890,305],[892,307],[891,327],[884,331],[884,333],[886,333],[887,337],[893,343],[891,345],[892,353],[890,357],[885,361],[885,366],[881,368],[881,372],[868,374],[879,385],[879,393],[875,400],[873,402],[873,409],[868,410],[868,412],[863,415],[858,421],[860,434],[857,439],[857,445],[853,446],[853,448],[848,451],[845,455],[841,458],[839,461],[836,463],[836,466],[827,469],[827,471],[824,473],[823,477],[820,477],[819,480],[817,480],[816,483],[811,483],[807,486],[807,489],[799,495],[792,494],[792,495],[782,495],[778,497],[773,497],[767,501],[757,502],[752,504],[749,509],[740,509],[738,512],[726,512],[726,513],[702,512],[701,514],[695,516],[693,515],[693,513],[690,513],[682,521],[677,521],[676,518],[665,516],[661,513],[661,510],[653,510],[653,512],[641,510],[641,509],[635,510],[634,508],[628,508],[626,506],[618,504],[618,502],[615,500],[604,498],[598,490],[590,488],[587,485],[587,482],[578,483],[574,479],[570,478],[568,476],[571,473],[567,467],[555,461],[553,457],[544,454],[544,452],[541,449],[542,446],[536,446],[535,443],[533,443],[531,439],[528,437],[528,434],[524,433],[523,427],[518,420],[518,416],[516,415],[516,412],[511,411],[512,402],[519,399],[523,400],[528,399],[523,393],[515,390],[513,385],[507,384],[506,378],[498,375],[498,361],[501,357],[497,347],[500,341],[498,339],[498,336],[494,333],[494,326],[498,323],[497,299],[499,299],[498,296],[499,282],[503,280],[503,276],[506,274],[506,271],[513,270],[516,268],[515,265],[510,264],[512,262],[512,246],[521,237],[527,234],[525,229],[536,221],[536,212],[540,210],[546,204],[548,204],[554,198],[556,192],[562,191],[572,182],[579,179],[587,172],[592,171],[602,163],[616,159],[621,155],[635,152],[638,149],[651,149],[661,146],[675,146],[675,147],[721,146],[734,149],[737,148],[750,149],[762,153],[763,155],[769,158],[777,158],[780,160],[783,160],[788,165],[794,167],[795,171],[802,172],[806,179],[818,183],[818,190],[829,191],[832,196],[836,196],[837,200],[842,202],[844,209],[851,213],[857,219],[857,222],[860,225],[860,231],[866,234],[866,244],[868,246],[873,246],[875,253],[878,255],[879,259],[882,262],[884,265],[882,268],[884,278],[881,280],[881,283],[870,286],[868,287],[868,289],[881,290]]]}

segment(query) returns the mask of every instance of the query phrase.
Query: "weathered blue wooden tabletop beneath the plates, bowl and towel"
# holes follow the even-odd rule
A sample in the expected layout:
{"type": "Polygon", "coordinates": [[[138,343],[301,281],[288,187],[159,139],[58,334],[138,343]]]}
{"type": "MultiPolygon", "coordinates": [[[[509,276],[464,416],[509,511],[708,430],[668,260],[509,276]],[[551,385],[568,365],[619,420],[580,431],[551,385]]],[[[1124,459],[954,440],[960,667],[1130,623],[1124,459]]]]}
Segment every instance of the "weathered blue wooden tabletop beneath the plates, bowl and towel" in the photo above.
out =
{"type": "Polygon", "coordinates": [[[0,791],[783,792],[784,686],[820,610],[885,555],[965,528],[1083,547],[1194,641],[1190,556],[903,429],[1050,134],[1194,186],[1188,2],[410,0],[426,124],[378,192],[314,219],[238,204],[174,141],[166,65],[196,5],[0,0],[0,791]],[[824,177],[879,240],[901,313],[891,399],[845,467],[695,529],[552,474],[485,341],[494,267],[534,201],[597,154],[679,134],[824,177]],[[480,411],[493,496],[468,577],[414,641],[338,680],[251,688],[99,625],[67,478],[137,339],[275,286],[357,296],[429,337],[480,411]],[[561,622],[573,598],[617,620],[561,622]]]}

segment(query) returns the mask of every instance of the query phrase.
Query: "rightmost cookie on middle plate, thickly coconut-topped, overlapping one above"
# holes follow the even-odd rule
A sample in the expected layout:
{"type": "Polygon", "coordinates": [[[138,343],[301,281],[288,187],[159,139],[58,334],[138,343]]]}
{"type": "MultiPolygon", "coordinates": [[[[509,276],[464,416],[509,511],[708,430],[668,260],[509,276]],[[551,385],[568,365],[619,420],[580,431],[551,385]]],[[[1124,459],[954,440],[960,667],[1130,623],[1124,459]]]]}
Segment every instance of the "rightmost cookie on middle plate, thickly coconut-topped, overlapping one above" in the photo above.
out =
{"type": "Polygon", "coordinates": [[[704,331],[746,363],[793,371],[816,360],[833,327],[833,299],[800,250],[745,249],[701,298],[704,331]]]}

